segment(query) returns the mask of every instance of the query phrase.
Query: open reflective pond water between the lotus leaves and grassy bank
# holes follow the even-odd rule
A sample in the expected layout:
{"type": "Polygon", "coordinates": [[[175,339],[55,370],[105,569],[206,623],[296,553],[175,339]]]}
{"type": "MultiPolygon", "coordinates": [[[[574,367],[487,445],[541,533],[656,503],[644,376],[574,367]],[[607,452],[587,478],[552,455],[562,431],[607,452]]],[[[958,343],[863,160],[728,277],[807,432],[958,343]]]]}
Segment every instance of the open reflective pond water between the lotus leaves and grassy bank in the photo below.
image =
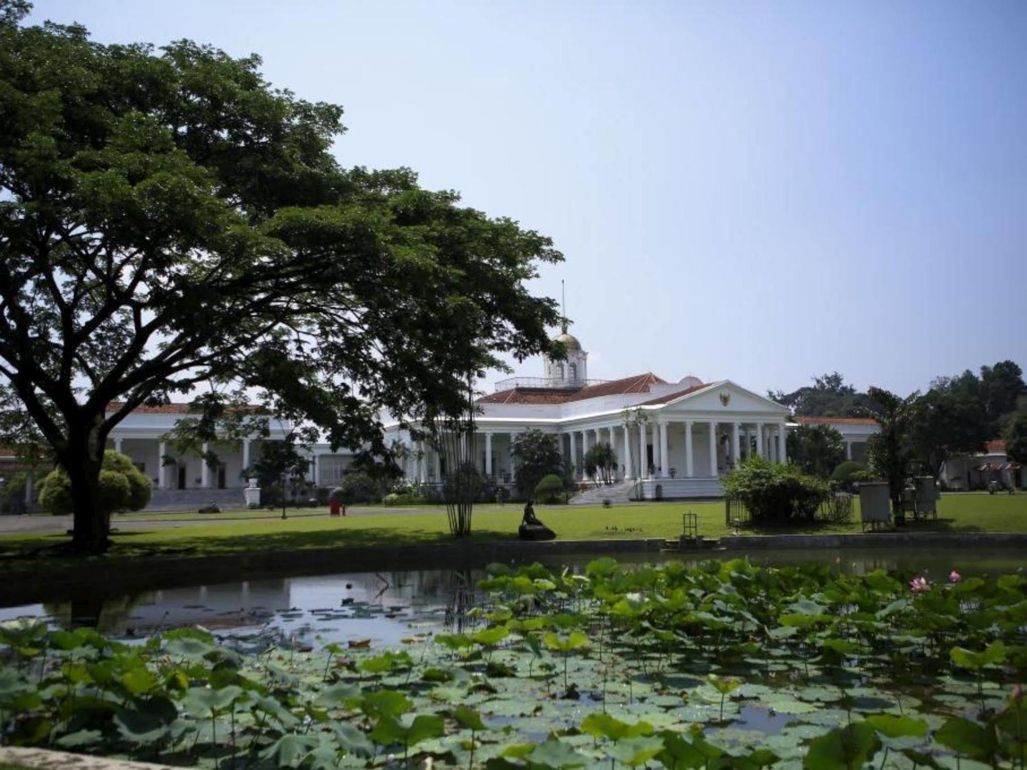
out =
{"type": "MultiPolygon", "coordinates": [[[[733,559],[739,553],[716,553],[733,559]]],[[[963,575],[1002,574],[1023,570],[1023,549],[880,548],[847,550],[765,551],[749,554],[754,564],[820,563],[846,572],[900,570],[945,580],[963,575]]],[[[551,569],[583,571],[591,556],[550,561],[551,569]]],[[[624,564],[669,561],[651,554],[620,554],[624,564]]],[[[697,563],[699,559],[683,560],[697,563]]],[[[44,604],[0,609],[0,621],[37,617],[64,626],[88,625],[123,639],[141,639],[183,625],[202,625],[225,633],[271,630],[298,644],[371,639],[396,644],[421,630],[459,624],[481,596],[474,585],[483,570],[417,570],[362,572],[316,577],[284,577],[223,582],[163,590],[96,595],[55,593],[44,604]]]]}

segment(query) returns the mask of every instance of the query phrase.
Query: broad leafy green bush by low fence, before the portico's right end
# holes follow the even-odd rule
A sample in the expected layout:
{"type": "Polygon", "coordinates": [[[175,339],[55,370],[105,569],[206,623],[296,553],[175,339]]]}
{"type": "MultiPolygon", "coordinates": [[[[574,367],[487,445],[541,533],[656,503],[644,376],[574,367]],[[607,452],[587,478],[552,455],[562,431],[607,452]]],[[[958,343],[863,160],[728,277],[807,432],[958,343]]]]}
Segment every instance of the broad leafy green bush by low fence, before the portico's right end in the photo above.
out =
{"type": "Polygon", "coordinates": [[[795,465],[753,457],[723,480],[724,493],[740,500],[756,524],[812,521],[831,496],[827,482],[803,473],[795,465]]]}

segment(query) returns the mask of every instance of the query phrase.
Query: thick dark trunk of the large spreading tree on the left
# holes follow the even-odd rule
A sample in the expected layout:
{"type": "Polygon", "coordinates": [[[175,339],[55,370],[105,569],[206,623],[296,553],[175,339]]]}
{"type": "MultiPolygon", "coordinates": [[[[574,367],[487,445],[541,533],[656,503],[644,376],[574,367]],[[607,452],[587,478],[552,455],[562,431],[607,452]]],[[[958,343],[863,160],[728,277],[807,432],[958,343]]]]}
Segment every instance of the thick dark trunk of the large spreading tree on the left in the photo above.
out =
{"type": "Polygon", "coordinates": [[[85,425],[69,426],[69,440],[58,461],[71,482],[74,535],[72,548],[82,553],[103,553],[110,545],[109,512],[100,506],[100,470],[106,436],[101,435],[103,414],[85,425]]]}

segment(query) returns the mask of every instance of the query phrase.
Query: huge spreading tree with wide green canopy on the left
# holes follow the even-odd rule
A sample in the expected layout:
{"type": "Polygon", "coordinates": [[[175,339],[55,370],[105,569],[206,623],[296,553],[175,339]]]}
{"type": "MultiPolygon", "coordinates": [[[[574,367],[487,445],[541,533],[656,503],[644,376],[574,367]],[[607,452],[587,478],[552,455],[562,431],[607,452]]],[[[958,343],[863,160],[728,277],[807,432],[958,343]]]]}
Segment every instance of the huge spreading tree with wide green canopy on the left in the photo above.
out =
{"type": "Polygon", "coordinates": [[[525,287],[547,238],[341,167],[341,108],[257,56],[27,10],[0,0],[0,383],[68,472],[77,549],[107,546],[104,446],[141,405],[231,383],[384,454],[380,411],[460,414],[500,353],[550,348],[525,287]]]}

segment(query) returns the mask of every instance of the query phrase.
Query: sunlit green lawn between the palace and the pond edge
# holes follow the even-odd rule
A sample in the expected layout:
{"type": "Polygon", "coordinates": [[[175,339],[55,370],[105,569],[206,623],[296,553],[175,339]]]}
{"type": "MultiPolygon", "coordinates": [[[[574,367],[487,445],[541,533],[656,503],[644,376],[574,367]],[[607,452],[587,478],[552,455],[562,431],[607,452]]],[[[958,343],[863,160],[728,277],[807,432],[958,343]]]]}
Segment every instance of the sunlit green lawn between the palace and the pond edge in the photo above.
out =
{"type": "MultiPolygon", "coordinates": [[[[113,536],[114,545],[102,559],[217,555],[269,549],[395,547],[450,541],[442,506],[413,506],[394,513],[378,510],[381,512],[356,509],[355,515],[332,518],[326,512],[302,509],[304,515],[297,511],[286,521],[281,521],[280,514],[270,515],[269,511],[246,511],[269,515],[254,515],[252,521],[244,522],[124,531],[113,536]]],[[[908,530],[1027,533],[1027,495],[949,495],[943,497],[939,510],[937,522],[911,525],[908,530]]],[[[724,524],[724,504],[720,501],[641,503],[614,508],[537,507],[539,517],[564,540],[676,538],[682,533],[682,513],[686,511],[697,515],[700,535],[733,534],[724,524]]],[[[201,517],[200,514],[191,515],[201,517]]],[[[859,510],[849,525],[745,530],[743,534],[858,533],[861,531],[859,510]]],[[[478,506],[471,540],[517,539],[520,522],[520,506],[478,506]]],[[[64,534],[0,537],[0,564],[8,568],[36,565],[41,557],[53,557],[47,551],[67,540],[64,534]]]]}

